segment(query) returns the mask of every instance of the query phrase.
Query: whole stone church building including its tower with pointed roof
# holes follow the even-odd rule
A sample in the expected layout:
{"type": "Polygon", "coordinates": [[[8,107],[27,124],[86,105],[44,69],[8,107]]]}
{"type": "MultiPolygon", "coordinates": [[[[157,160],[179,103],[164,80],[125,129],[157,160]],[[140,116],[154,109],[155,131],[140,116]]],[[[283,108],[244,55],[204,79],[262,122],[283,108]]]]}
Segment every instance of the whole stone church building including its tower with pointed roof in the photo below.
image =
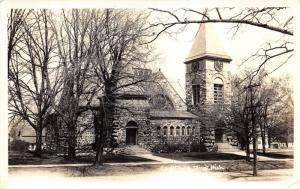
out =
{"type": "MultiPolygon", "coordinates": [[[[136,76],[155,76],[157,83],[138,94],[126,93],[117,102],[126,109],[114,115],[114,137],[118,147],[137,145],[154,152],[212,151],[236,145],[236,137],[226,131],[224,109],[230,104],[230,62],[213,25],[201,24],[186,67],[186,99],[178,94],[161,71],[134,69],[136,76]]],[[[93,114],[78,119],[78,150],[94,142],[93,114]]],[[[51,133],[52,132],[52,133],[51,133]]],[[[46,132],[52,149],[65,151],[63,131],[54,137],[46,132]]]]}

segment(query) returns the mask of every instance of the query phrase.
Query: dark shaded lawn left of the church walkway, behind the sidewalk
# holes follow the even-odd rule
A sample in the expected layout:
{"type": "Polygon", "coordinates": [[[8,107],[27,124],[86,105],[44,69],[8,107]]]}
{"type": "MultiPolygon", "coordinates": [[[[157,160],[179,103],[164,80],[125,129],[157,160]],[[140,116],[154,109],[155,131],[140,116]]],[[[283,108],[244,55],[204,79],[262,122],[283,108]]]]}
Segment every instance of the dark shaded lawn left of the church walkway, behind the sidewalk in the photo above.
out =
{"type": "MultiPolygon", "coordinates": [[[[104,156],[105,163],[128,163],[128,162],[151,162],[154,160],[128,156],[128,155],[106,155],[104,156]]],[[[75,159],[67,159],[62,156],[34,152],[9,152],[9,165],[40,165],[40,164],[73,164],[73,163],[93,163],[94,156],[78,156],[75,159]]]]}

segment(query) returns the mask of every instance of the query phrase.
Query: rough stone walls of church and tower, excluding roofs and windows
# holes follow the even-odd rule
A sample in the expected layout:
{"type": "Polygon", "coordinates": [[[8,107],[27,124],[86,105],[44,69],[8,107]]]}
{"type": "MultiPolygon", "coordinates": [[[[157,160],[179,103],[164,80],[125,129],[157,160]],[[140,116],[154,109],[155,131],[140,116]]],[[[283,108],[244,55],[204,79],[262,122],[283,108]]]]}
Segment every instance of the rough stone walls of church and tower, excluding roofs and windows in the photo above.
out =
{"type": "MultiPolygon", "coordinates": [[[[224,118],[222,110],[230,102],[229,64],[224,63],[222,72],[214,70],[213,61],[201,60],[200,69],[192,72],[191,64],[186,64],[186,104],[176,93],[172,85],[161,72],[156,73],[158,84],[147,85],[145,94],[128,94],[116,100],[118,107],[113,116],[113,127],[109,131],[115,139],[118,148],[126,147],[126,126],[129,122],[137,125],[137,145],[155,152],[192,151],[193,148],[204,145],[206,151],[215,149],[215,126],[224,118]],[[224,104],[213,103],[214,79],[219,77],[224,84],[224,104]],[[200,85],[200,104],[192,104],[192,84],[200,85]],[[166,96],[170,105],[154,107],[150,104],[151,98],[157,94],[166,96]],[[133,95],[133,96],[130,96],[133,95]],[[151,117],[150,110],[177,111],[187,110],[198,118],[180,117],[151,117]],[[167,135],[163,134],[163,128],[167,127],[167,135]],[[174,135],[170,135],[170,128],[174,128],[174,135]],[[176,128],[179,127],[179,135],[176,128]],[[182,135],[182,128],[185,134],[182,135]],[[187,135],[187,128],[190,134],[187,135]],[[160,128],[160,129],[158,129],[160,128]],[[192,129],[195,129],[192,133],[192,129]]],[[[84,112],[77,122],[77,152],[91,150],[94,142],[93,113],[84,112]]],[[[50,127],[51,128],[51,127],[50,127]]],[[[67,152],[67,130],[61,120],[56,121],[56,127],[47,132],[49,147],[59,153],[67,152]]],[[[109,142],[108,142],[109,143],[109,142]]],[[[109,146],[107,146],[109,147],[109,146]]]]}

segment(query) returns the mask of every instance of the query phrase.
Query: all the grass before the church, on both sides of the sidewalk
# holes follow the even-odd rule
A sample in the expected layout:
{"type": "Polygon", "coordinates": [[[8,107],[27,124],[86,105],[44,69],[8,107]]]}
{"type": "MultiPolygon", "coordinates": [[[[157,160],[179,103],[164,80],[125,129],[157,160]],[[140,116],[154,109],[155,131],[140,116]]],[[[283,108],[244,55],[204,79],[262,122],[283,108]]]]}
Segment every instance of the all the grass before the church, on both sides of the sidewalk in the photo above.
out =
{"type": "MultiPolygon", "coordinates": [[[[270,153],[268,153],[270,154],[270,153]]],[[[271,153],[272,154],[272,153],[271,153]]],[[[160,157],[165,157],[180,161],[197,161],[189,164],[141,164],[141,165],[104,165],[99,167],[94,166],[67,166],[61,167],[10,167],[10,174],[17,174],[19,172],[45,172],[62,174],[67,177],[82,177],[82,176],[123,176],[144,174],[153,171],[160,171],[164,168],[189,168],[195,171],[208,170],[212,172],[241,172],[251,171],[252,162],[246,162],[244,156],[229,154],[229,153],[171,153],[171,154],[156,154],[160,157]],[[203,160],[203,162],[201,162],[203,160]],[[234,160],[234,161],[221,161],[234,160]],[[209,162],[210,161],[210,162],[209,162]]],[[[106,163],[126,163],[126,162],[149,162],[153,160],[125,155],[110,155],[105,156],[106,163]]],[[[9,155],[10,165],[19,164],[76,164],[76,163],[93,163],[92,156],[79,156],[73,160],[68,160],[63,157],[55,156],[53,154],[35,154],[35,153],[11,153],[9,155]]],[[[273,170],[273,169],[291,169],[293,168],[293,161],[287,160],[270,160],[258,161],[258,170],[273,170]]]]}

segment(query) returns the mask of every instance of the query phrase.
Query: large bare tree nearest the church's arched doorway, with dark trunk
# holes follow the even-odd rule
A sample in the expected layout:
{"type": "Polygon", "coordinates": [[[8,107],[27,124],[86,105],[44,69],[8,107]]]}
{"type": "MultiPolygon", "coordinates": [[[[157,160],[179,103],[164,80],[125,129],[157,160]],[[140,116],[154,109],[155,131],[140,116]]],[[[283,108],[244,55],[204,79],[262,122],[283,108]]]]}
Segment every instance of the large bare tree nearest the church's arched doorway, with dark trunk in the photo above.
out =
{"type": "Polygon", "coordinates": [[[104,145],[113,145],[115,110],[126,108],[116,102],[117,98],[139,93],[141,85],[150,82],[150,75],[138,76],[134,72],[154,60],[153,49],[146,44],[147,36],[152,35],[146,28],[147,17],[133,10],[106,9],[95,13],[93,71],[94,83],[101,89],[100,114],[95,123],[96,164],[103,163],[104,145]]]}

